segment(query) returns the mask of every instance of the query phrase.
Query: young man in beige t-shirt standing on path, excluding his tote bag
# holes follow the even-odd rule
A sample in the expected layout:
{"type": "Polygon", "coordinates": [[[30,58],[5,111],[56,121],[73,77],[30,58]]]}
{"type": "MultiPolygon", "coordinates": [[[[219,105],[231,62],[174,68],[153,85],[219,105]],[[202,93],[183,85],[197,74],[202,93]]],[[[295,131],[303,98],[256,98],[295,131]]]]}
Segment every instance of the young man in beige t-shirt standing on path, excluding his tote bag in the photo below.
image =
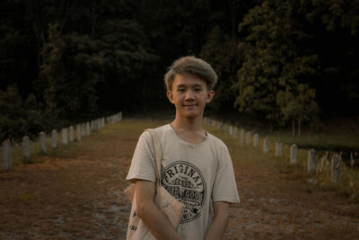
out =
{"type": "Polygon", "coordinates": [[[227,147],[202,128],[216,80],[212,67],[194,57],[174,61],[164,76],[176,118],[155,130],[162,146],[162,186],[185,205],[177,231],[153,202],[151,135],[144,132],[138,140],[127,180],[136,182],[136,214],[158,239],[222,239],[229,204],[240,201],[227,147]]]}

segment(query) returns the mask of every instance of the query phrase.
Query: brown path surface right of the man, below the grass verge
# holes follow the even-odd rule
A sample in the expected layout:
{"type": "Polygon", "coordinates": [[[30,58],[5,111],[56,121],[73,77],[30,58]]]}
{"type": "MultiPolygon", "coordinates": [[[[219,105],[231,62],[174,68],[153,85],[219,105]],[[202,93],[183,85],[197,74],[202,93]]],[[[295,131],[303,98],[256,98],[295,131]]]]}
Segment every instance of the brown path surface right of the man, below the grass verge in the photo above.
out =
{"type": "Polygon", "coordinates": [[[359,239],[359,205],[287,173],[235,164],[241,203],[226,239],[359,239]]]}

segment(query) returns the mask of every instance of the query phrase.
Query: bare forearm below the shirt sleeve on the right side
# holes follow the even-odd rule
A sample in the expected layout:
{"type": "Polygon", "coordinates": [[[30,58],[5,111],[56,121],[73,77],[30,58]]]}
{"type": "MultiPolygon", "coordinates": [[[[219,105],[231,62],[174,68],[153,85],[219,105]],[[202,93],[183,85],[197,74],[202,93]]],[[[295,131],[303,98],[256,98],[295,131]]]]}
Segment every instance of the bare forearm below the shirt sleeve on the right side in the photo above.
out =
{"type": "Polygon", "coordinates": [[[206,240],[218,240],[223,239],[225,229],[228,226],[230,220],[230,207],[229,203],[225,201],[215,201],[215,217],[212,220],[212,224],[206,233],[206,240]]]}

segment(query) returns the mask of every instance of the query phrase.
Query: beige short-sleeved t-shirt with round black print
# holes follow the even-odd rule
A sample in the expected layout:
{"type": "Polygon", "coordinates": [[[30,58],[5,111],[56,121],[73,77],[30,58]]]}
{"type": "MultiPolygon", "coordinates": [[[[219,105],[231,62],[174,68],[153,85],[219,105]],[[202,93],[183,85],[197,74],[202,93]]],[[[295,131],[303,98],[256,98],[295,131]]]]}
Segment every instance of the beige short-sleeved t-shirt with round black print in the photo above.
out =
{"type": "MultiPolygon", "coordinates": [[[[211,134],[200,144],[177,136],[169,124],[155,129],[162,146],[162,186],[185,205],[178,233],[204,239],[213,218],[213,201],[240,201],[232,159],[223,141],[211,134]]],[[[127,180],[156,181],[153,140],[139,138],[127,180]]]]}

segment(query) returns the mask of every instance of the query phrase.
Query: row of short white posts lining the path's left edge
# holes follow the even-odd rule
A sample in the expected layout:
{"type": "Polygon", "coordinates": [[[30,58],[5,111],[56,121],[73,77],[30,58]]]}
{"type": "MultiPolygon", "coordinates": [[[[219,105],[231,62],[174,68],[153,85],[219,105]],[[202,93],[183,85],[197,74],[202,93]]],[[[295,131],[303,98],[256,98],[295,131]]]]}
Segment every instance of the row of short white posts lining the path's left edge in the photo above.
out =
{"type": "MultiPolygon", "coordinates": [[[[117,114],[102,117],[100,119],[87,121],[76,125],[76,140],[80,141],[84,137],[90,136],[92,131],[97,131],[105,127],[106,124],[112,124],[122,120],[122,112],[119,111],[117,114]]],[[[61,130],[62,144],[67,145],[69,142],[74,142],[74,127],[64,128],[61,130]],[[68,133],[68,134],[67,134],[68,133]]],[[[57,129],[51,131],[51,148],[55,149],[58,147],[57,143],[57,129]]],[[[3,170],[4,172],[12,171],[12,144],[9,139],[3,142],[3,170]]],[[[39,133],[39,152],[46,155],[48,150],[46,147],[46,134],[45,132],[39,133]]],[[[31,160],[31,140],[28,136],[22,138],[22,160],[26,164],[31,160]]]]}

